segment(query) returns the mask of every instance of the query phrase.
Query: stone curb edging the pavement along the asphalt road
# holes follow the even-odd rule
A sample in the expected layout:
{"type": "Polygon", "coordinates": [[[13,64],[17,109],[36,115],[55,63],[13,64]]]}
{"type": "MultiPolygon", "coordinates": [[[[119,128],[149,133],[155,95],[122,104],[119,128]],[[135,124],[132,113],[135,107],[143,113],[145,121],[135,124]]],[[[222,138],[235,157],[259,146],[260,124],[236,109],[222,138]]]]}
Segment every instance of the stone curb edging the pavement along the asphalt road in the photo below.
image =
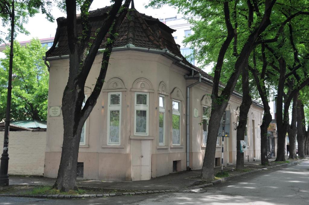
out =
{"type": "MultiPolygon", "coordinates": [[[[225,182],[231,178],[235,178],[235,177],[239,177],[239,176],[243,176],[243,175],[247,175],[247,174],[252,174],[255,172],[259,172],[259,171],[263,171],[263,170],[267,170],[267,169],[271,169],[271,168],[275,168],[275,167],[280,167],[283,165],[290,165],[290,164],[296,164],[299,161],[304,161],[306,159],[300,159],[297,161],[293,161],[293,162],[289,162],[289,163],[282,163],[279,165],[274,165],[274,166],[270,166],[270,167],[265,167],[265,168],[261,168],[261,169],[255,169],[249,172],[244,172],[244,173],[240,173],[234,176],[230,176],[230,177],[225,177],[225,178],[221,178],[221,179],[217,179],[214,181],[211,181],[210,183],[206,183],[206,184],[202,184],[202,185],[198,185],[198,186],[191,186],[191,187],[185,187],[185,188],[179,188],[179,189],[168,189],[168,190],[149,190],[149,191],[135,191],[135,192],[123,192],[123,193],[102,193],[102,194],[85,194],[85,195],[8,195],[8,194],[0,194],[0,196],[13,196],[13,197],[31,197],[31,198],[49,198],[49,199],[74,199],[74,198],[79,198],[79,199],[83,199],[83,198],[95,198],[95,197],[110,197],[110,196],[125,196],[125,195],[142,195],[142,194],[153,194],[153,193],[165,193],[165,192],[174,192],[174,191],[184,191],[189,189],[198,189],[198,188],[205,188],[208,186],[213,186],[215,184],[219,184],[222,182],[225,182]]],[[[84,186],[85,187],[85,186],[84,186]]],[[[87,187],[89,188],[89,187],[87,187]]],[[[97,187],[96,187],[97,188],[97,187]]]]}

